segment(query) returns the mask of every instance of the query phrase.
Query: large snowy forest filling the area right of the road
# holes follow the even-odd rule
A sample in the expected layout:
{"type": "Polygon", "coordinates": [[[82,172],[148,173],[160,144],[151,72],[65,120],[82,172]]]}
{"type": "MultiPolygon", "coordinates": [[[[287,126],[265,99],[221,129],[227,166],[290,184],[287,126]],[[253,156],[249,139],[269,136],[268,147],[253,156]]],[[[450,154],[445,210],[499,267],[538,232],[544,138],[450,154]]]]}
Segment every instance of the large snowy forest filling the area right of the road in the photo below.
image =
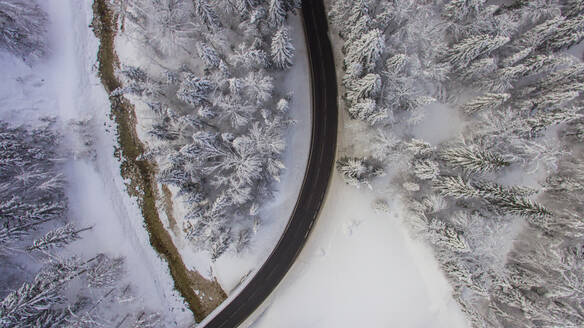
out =
{"type": "Polygon", "coordinates": [[[473,326],[582,326],[584,1],[336,0],[329,17],[345,107],[368,126],[347,182],[376,176],[360,158],[398,173],[404,220],[473,326]],[[435,103],[460,135],[412,132],[435,103]]]}

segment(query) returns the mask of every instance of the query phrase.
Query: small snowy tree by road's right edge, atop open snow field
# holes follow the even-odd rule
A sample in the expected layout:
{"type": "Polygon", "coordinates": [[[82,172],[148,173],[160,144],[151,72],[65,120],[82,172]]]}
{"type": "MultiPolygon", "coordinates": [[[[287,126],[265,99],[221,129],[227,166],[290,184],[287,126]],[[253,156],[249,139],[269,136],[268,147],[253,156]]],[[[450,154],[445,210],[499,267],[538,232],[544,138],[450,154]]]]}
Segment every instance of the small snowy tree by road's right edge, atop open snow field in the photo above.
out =
{"type": "Polygon", "coordinates": [[[383,174],[383,168],[367,158],[342,157],[337,161],[337,170],[343,176],[345,183],[359,187],[362,184],[370,186],[370,180],[383,174]]]}

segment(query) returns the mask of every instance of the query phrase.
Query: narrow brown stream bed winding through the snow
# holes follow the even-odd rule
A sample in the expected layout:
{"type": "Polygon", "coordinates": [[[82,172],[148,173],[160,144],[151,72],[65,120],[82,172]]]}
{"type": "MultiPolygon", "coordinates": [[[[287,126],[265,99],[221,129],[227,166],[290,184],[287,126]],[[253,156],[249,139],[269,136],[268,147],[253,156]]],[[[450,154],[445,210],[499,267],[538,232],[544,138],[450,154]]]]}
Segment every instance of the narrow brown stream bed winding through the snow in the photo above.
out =
{"type": "MultiPolygon", "coordinates": [[[[115,50],[116,18],[106,1],[94,2],[94,32],[100,40],[98,51],[99,75],[107,92],[115,90],[120,82],[114,72],[119,65],[115,50]]],[[[139,205],[150,235],[150,244],[168,262],[177,290],[188,302],[197,320],[201,320],[215,309],[225,298],[216,280],[209,281],[197,272],[186,268],[168,231],[159,218],[156,201],[160,197],[154,187],[156,168],[148,161],[137,160],[144,146],[136,134],[136,116],[133,105],[123,98],[110,98],[111,118],[118,132],[118,156],[122,160],[121,174],[127,179],[127,190],[138,197],[139,205]],[[195,290],[204,291],[196,294],[195,290]]]]}

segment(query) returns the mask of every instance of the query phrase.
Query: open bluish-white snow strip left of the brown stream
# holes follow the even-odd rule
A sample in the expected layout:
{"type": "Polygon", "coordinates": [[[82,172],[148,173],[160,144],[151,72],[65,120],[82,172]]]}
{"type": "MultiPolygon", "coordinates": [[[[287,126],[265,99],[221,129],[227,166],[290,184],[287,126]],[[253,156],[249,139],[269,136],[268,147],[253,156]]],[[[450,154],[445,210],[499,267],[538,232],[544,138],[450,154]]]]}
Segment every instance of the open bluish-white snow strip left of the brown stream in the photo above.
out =
{"type": "MultiPolygon", "coordinates": [[[[98,40],[88,27],[91,0],[47,0],[50,55],[25,64],[0,52],[0,118],[14,124],[37,124],[43,116],[56,116],[63,124],[66,143],[76,139],[67,122],[91,118],[96,136],[96,161],[66,163],[72,222],[93,226],[66,253],[82,257],[106,253],[126,258],[127,280],[135,302],[146,311],[159,312],[170,326],[192,323],[192,313],[174,289],[167,263],[149,243],[136,200],[125,192],[120,162],[114,157],[115,128],[109,119],[110,103],[97,77],[98,40]]],[[[66,144],[66,147],[75,147],[66,144]]]]}

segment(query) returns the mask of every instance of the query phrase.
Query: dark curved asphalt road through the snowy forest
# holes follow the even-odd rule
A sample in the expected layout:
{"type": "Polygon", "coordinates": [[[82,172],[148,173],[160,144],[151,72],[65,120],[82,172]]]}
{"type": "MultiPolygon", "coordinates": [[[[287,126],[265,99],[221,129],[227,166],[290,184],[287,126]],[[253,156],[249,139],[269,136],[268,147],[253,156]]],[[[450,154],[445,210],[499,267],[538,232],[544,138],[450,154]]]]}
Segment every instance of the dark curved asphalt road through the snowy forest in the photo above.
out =
{"type": "Polygon", "coordinates": [[[322,0],[303,0],[302,18],[312,81],[312,137],[300,196],[266,262],[205,328],[237,327],[270,295],[302,250],[329,185],[337,144],[337,82],[322,0]]]}

